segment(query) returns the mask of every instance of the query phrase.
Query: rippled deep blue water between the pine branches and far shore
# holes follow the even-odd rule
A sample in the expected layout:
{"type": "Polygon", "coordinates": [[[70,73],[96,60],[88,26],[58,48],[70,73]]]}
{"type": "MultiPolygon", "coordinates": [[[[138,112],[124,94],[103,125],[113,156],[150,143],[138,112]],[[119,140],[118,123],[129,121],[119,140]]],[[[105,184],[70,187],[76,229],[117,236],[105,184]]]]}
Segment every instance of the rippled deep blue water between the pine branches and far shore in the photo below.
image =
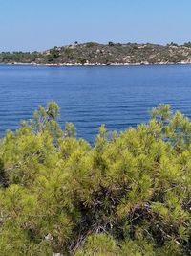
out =
{"type": "Polygon", "coordinates": [[[73,122],[92,142],[98,127],[122,130],[147,122],[149,111],[168,103],[191,117],[191,65],[44,67],[0,66],[0,136],[54,100],[60,124],[73,122]]]}

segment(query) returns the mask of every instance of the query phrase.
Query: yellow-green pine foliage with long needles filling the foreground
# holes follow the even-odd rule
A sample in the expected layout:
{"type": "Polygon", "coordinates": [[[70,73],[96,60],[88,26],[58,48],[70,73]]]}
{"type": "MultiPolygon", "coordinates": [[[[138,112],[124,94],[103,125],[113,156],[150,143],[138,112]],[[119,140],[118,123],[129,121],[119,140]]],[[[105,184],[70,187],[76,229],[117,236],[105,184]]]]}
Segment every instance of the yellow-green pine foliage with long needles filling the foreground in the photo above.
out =
{"type": "Polygon", "coordinates": [[[191,255],[191,123],[168,105],[94,146],[39,107],[0,147],[4,256],[191,255]]]}

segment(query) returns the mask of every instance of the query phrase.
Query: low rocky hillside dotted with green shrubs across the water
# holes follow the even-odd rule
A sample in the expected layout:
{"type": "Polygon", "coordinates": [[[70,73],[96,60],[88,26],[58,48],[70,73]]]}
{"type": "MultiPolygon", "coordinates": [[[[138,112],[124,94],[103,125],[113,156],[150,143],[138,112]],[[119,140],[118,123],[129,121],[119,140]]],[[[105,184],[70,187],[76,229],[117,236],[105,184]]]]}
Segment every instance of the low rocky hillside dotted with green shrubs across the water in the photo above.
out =
{"type": "Polygon", "coordinates": [[[168,64],[191,63],[191,43],[157,44],[96,42],[54,47],[44,52],[3,52],[0,63],[31,64],[168,64]]]}

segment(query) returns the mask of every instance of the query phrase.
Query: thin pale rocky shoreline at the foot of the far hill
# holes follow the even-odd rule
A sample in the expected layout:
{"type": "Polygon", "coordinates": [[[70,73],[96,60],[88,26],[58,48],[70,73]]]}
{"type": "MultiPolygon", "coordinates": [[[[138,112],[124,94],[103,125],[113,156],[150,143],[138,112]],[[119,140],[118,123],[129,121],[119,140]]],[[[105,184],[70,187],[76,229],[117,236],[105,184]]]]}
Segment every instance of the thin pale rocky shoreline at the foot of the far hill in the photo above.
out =
{"type": "Polygon", "coordinates": [[[48,64],[48,63],[22,63],[22,62],[13,62],[13,63],[0,63],[0,65],[8,65],[8,66],[54,66],[54,67],[65,67],[65,66],[157,66],[157,65],[190,65],[191,62],[159,62],[159,63],[149,63],[149,62],[139,62],[139,63],[59,63],[59,64],[48,64]]]}

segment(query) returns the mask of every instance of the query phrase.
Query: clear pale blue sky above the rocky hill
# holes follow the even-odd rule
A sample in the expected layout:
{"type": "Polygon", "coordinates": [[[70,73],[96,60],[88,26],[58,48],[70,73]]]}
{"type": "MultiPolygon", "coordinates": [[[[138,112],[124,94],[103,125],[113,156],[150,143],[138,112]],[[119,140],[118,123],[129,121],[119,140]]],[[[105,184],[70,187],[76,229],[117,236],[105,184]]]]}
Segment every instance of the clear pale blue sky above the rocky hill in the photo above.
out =
{"type": "Polygon", "coordinates": [[[191,40],[191,0],[0,0],[0,51],[191,40]]]}

